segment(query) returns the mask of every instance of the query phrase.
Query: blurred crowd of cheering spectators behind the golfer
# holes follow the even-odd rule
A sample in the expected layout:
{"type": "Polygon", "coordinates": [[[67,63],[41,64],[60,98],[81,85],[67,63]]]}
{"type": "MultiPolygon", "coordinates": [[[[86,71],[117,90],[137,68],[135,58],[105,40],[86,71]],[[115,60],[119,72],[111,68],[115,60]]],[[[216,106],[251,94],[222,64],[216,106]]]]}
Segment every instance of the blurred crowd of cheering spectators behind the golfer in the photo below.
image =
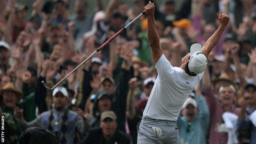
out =
{"type": "MultiPolygon", "coordinates": [[[[152,0],[172,66],[230,22],[178,118],[179,144],[256,144],[256,0],[152,0]]],[[[151,1],[151,2],[152,2],[151,1]]],[[[136,144],[157,76],[142,16],[148,0],[0,0],[5,143],[136,144]],[[90,11],[89,11],[90,10],[90,11]],[[33,136],[32,136],[33,135],[33,136]],[[20,137],[20,138],[19,138],[20,137]],[[38,141],[39,139],[39,141],[38,141]]]]}

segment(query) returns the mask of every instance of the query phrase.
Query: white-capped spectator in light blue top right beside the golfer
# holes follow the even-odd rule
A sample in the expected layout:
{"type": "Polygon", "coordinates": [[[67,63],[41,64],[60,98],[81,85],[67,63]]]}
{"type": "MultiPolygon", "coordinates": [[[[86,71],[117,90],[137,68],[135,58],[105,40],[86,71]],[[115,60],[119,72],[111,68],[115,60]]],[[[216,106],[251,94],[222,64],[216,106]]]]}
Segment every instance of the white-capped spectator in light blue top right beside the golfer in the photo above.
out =
{"type": "Polygon", "coordinates": [[[188,97],[178,117],[179,144],[206,144],[210,114],[200,85],[194,91],[195,99],[188,97]]]}

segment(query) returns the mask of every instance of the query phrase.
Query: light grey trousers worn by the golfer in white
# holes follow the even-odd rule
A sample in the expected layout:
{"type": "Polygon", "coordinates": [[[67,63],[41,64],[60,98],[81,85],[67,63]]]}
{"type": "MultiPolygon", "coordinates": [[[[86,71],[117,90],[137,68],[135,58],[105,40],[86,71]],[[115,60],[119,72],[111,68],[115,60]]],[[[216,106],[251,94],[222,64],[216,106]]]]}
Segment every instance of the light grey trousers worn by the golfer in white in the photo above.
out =
{"type": "Polygon", "coordinates": [[[142,119],[137,124],[137,144],[178,144],[178,127],[176,123],[149,121],[142,119]],[[152,127],[162,129],[161,137],[154,137],[152,127]]]}

